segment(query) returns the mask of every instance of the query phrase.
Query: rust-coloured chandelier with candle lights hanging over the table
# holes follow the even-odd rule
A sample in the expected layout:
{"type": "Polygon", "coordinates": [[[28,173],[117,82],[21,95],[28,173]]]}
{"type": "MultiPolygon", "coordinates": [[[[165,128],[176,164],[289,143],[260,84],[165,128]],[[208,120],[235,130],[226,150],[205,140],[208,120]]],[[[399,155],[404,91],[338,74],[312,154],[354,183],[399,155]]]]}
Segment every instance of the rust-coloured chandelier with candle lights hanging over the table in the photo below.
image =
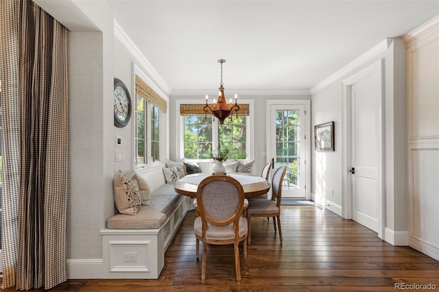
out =
{"type": "Polygon", "coordinates": [[[238,106],[238,96],[235,94],[235,104],[232,104],[232,99],[230,98],[229,104],[226,102],[226,97],[224,97],[224,87],[222,83],[222,64],[225,63],[226,60],[219,59],[218,63],[221,64],[221,82],[219,83],[219,93],[218,93],[218,101],[213,99],[213,106],[209,106],[209,95],[206,95],[206,105],[203,110],[207,117],[207,112],[211,112],[214,117],[219,120],[220,124],[224,123],[224,120],[230,115],[236,112],[238,117],[239,106],[238,106]]]}

